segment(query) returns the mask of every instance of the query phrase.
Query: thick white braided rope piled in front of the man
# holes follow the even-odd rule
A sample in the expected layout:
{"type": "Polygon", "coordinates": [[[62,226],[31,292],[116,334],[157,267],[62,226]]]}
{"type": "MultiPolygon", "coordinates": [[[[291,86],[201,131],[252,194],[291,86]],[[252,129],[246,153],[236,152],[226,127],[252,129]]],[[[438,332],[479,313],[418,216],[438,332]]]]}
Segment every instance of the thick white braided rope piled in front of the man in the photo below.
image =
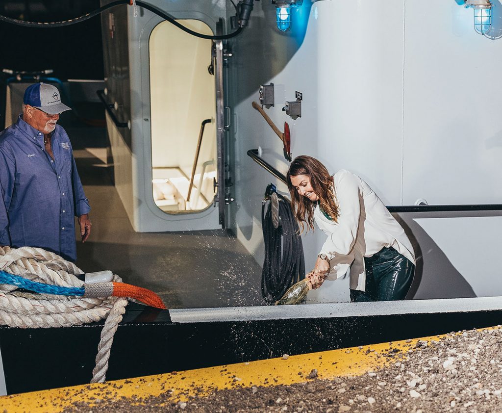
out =
{"type": "MultiPolygon", "coordinates": [[[[76,265],[52,252],[33,247],[1,247],[0,270],[31,281],[63,287],[81,287],[83,274],[76,265]]],[[[122,280],[113,276],[114,282],[122,280]]],[[[106,319],[96,355],[91,383],[105,381],[113,335],[126,312],[127,298],[81,298],[40,295],[16,291],[18,287],[0,284],[0,324],[19,328],[71,327],[106,319]]]]}

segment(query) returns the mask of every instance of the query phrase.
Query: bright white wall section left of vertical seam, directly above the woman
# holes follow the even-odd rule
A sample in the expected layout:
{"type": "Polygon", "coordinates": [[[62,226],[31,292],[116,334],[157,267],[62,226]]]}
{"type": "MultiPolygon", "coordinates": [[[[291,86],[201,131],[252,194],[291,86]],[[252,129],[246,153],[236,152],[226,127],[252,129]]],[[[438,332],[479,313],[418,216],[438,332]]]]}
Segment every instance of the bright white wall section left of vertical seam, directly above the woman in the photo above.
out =
{"type": "Polygon", "coordinates": [[[323,149],[308,154],[330,171],[360,175],[387,205],[400,204],[403,2],[321,1],[314,8],[323,149]]]}

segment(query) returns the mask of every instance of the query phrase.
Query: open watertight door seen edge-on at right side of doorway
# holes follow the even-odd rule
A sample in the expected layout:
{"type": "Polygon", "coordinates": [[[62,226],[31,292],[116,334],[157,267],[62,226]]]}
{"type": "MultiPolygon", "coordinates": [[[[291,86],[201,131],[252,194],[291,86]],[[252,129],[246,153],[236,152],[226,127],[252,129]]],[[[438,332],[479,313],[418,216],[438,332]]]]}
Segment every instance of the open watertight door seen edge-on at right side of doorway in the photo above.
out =
{"type": "MultiPolygon", "coordinates": [[[[216,25],[216,34],[223,34],[223,24],[220,20],[216,25]]],[[[216,81],[216,158],[217,158],[217,202],[219,224],[225,228],[225,121],[224,121],[224,93],[223,93],[223,41],[215,40],[214,77],[216,81]]]]}

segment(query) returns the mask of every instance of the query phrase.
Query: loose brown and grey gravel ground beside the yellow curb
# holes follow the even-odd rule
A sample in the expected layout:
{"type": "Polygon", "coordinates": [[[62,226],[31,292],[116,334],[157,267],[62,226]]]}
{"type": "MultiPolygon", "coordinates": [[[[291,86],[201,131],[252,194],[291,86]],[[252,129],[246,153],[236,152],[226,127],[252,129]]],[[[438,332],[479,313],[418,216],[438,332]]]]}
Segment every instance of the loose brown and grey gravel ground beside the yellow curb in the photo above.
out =
{"type": "Polygon", "coordinates": [[[396,362],[362,376],[307,383],[218,390],[174,403],[159,397],[75,404],[75,412],[494,412],[502,411],[502,330],[450,333],[419,341],[396,362]]]}

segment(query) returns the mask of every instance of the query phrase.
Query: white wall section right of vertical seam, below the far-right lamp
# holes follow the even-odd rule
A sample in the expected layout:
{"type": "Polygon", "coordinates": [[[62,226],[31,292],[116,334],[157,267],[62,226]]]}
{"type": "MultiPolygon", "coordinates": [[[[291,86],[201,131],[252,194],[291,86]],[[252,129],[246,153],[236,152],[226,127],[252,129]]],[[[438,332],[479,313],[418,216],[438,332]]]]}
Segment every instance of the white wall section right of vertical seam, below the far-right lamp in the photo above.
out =
{"type": "Polygon", "coordinates": [[[405,22],[403,203],[501,203],[502,39],[475,33],[453,1],[434,13],[408,1],[405,22]]]}

